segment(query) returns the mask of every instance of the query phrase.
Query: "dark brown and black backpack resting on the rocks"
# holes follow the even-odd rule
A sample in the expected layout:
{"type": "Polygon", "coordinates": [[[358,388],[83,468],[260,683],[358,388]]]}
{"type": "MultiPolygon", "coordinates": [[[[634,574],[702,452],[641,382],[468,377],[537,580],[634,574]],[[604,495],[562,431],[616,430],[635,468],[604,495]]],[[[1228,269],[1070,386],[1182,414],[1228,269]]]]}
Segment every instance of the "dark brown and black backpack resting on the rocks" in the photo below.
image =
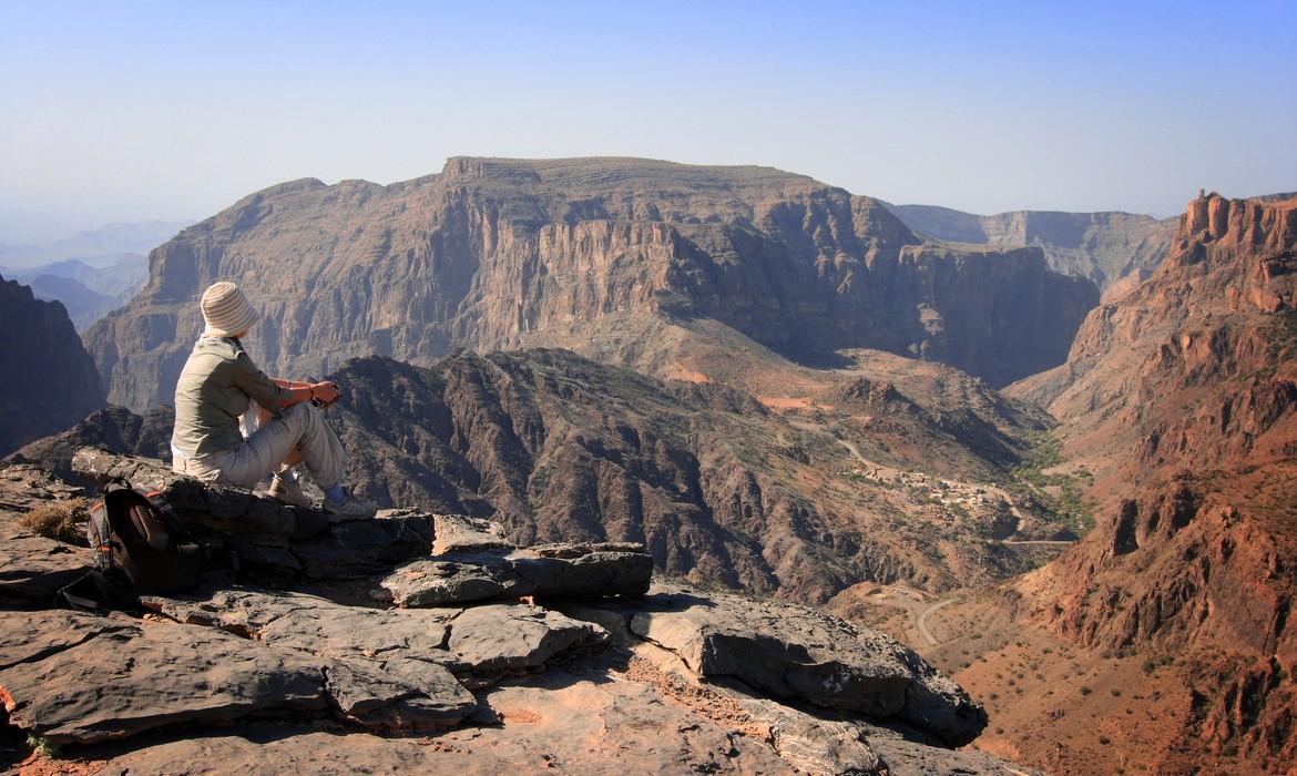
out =
{"type": "Polygon", "coordinates": [[[208,548],[161,493],[110,481],[91,509],[86,533],[95,570],[125,576],[136,594],[187,593],[202,581],[208,548]]]}

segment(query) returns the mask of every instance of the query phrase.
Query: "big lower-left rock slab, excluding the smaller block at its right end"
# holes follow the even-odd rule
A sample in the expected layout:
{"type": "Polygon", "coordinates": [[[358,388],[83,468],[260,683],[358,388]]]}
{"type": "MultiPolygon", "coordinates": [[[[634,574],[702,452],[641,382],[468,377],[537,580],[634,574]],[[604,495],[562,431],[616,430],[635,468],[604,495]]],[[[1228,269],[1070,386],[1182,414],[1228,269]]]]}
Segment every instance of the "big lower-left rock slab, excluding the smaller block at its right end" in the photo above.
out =
{"type": "Polygon", "coordinates": [[[318,661],[210,628],[49,611],[4,612],[0,627],[38,635],[0,646],[9,721],[54,744],[328,705],[318,661]]]}

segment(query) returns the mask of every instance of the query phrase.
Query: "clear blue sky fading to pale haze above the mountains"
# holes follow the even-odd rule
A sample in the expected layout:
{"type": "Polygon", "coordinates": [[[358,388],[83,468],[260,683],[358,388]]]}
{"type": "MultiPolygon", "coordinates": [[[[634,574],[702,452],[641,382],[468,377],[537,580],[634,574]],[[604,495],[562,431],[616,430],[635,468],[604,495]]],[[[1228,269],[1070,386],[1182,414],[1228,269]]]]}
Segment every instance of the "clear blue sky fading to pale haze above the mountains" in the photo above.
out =
{"type": "Polygon", "coordinates": [[[0,0],[0,243],[447,156],[760,164],[978,213],[1297,189],[1297,3],[0,0]]]}

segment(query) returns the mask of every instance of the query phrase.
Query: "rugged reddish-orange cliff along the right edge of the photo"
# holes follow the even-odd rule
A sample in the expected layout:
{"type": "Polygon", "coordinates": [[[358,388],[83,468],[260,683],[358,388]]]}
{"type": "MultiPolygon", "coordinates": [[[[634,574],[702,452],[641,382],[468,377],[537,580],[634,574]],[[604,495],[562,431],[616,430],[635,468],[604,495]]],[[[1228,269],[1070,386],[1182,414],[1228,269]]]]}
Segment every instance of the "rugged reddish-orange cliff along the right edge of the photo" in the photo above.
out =
{"type": "Polygon", "coordinates": [[[1109,515],[1018,584],[1027,609],[1083,644],[1187,655],[1187,751],[1263,768],[1297,754],[1294,292],[1297,200],[1201,197],[1069,362],[1010,388],[1064,422],[1109,515]]]}

